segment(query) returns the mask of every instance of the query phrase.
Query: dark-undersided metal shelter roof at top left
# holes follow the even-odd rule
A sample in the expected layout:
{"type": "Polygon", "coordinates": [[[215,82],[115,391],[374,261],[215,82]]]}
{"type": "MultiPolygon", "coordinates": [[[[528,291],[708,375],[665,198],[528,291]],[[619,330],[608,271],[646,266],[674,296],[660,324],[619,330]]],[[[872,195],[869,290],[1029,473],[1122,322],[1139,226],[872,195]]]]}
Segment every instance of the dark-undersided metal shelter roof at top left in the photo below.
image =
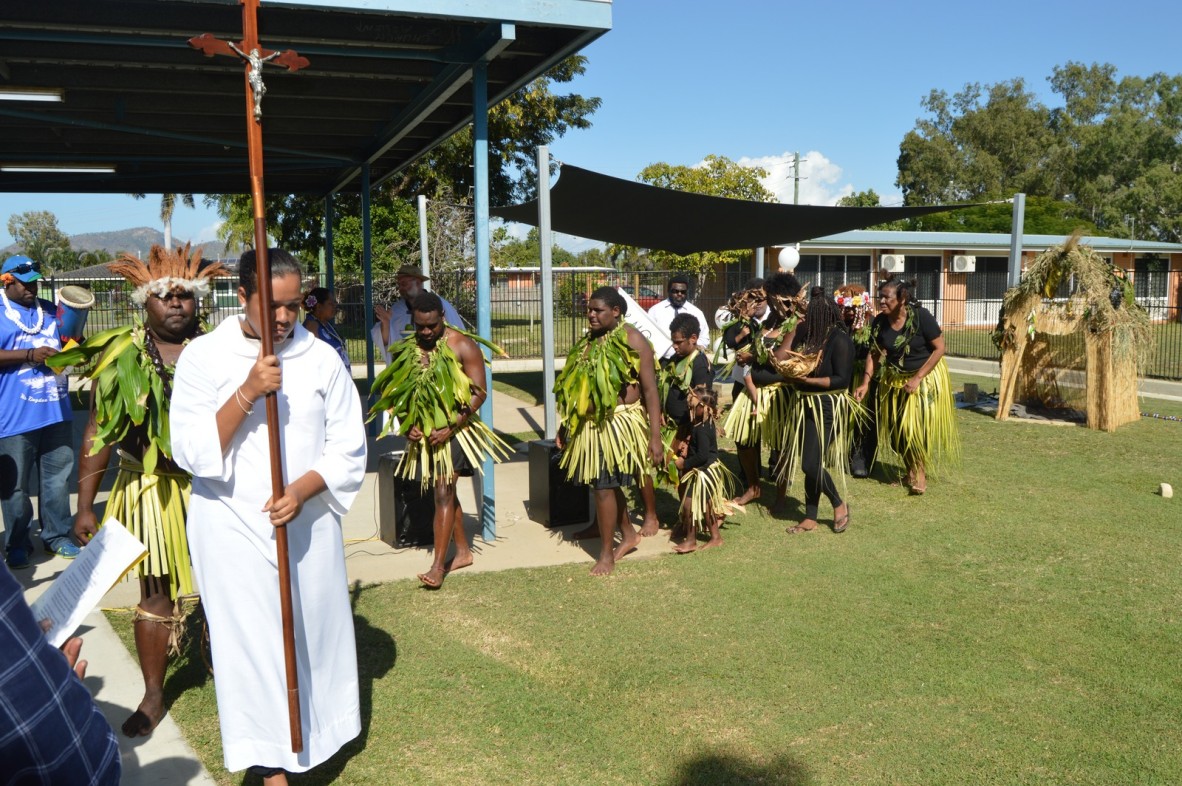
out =
{"type": "MultiPolygon", "coordinates": [[[[264,70],[266,189],[357,191],[366,162],[377,184],[472,122],[476,64],[494,104],[610,27],[608,0],[264,0],[262,46],[311,60],[264,70]]],[[[0,4],[0,92],[64,91],[0,99],[0,165],[116,169],[0,171],[0,190],[248,191],[242,64],[202,33],[240,41],[238,0],[0,4]]]]}

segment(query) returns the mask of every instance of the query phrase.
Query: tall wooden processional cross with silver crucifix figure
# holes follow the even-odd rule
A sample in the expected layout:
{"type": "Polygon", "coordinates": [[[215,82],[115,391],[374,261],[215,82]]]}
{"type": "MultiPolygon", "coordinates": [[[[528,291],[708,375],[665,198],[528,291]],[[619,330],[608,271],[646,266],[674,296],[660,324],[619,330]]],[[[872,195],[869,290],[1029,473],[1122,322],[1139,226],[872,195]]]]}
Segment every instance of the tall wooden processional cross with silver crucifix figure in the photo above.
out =
{"type": "MultiPolygon", "coordinates": [[[[242,40],[238,44],[222,41],[209,33],[189,39],[189,45],[201,50],[206,57],[226,54],[241,58],[246,63],[246,138],[251,162],[251,197],[254,202],[254,253],[259,279],[259,312],[262,324],[262,355],[274,353],[274,314],[271,312],[271,260],[267,259],[267,217],[262,196],[262,96],[267,92],[262,84],[262,65],[274,63],[298,71],[309,65],[292,50],[275,52],[259,46],[259,0],[239,0],[242,5],[242,40]]],[[[284,495],[284,469],[279,440],[279,401],[275,394],[267,394],[267,433],[271,439],[271,499],[284,495]]],[[[291,564],[287,554],[287,526],[275,527],[275,550],[279,563],[279,605],[284,618],[284,662],[287,669],[287,716],[291,721],[292,753],[304,751],[304,733],[299,713],[299,675],[296,671],[296,629],[292,617],[291,564]]]]}

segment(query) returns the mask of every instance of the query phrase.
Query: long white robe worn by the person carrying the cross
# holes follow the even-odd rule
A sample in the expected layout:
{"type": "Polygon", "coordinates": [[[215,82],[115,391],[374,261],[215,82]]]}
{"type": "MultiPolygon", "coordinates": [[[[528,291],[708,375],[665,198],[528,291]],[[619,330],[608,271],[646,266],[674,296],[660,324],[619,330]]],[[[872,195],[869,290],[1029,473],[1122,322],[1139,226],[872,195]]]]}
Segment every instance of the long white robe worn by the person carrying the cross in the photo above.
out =
{"type": "Polygon", "coordinates": [[[189,547],[213,645],[226,768],[304,772],[361,732],[357,648],[340,517],[365,474],[357,389],[331,346],[297,326],[275,352],[282,371],[279,422],[284,480],[309,470],[326,491],[287,525],[304,752],[287,721],[275,537],[262,506],[271,496],[266,408],[222,454],[216,413],[259,356],[259,342],[230,318],[181,355],[173,383],[171,441],[193,474],[189,547]]]}

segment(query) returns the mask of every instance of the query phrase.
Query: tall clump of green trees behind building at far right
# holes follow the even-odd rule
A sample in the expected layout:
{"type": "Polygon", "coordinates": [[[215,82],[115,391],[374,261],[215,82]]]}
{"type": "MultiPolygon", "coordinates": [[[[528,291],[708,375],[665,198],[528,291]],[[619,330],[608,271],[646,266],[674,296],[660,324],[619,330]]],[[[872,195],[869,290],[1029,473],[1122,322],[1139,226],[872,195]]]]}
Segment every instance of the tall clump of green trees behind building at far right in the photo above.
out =
{"type": "MultiPolygon", "coordinates": [[[[1182,77],[1117,78],[1110,64],[1067,63],[1048,109],[1020,79],[949,97],[933,91],[900,145],[908,204],[1027,194],[1026,232],[1182,240],[1182,77]],[[1066,228],[1066,229],[1064,229],[1066,228]]],[[[1002,208],[926,216],[913,227],[980,230],[1002,208]]],[[[1005,222],[1008,227],[1008,221],[1005,222]]]]}

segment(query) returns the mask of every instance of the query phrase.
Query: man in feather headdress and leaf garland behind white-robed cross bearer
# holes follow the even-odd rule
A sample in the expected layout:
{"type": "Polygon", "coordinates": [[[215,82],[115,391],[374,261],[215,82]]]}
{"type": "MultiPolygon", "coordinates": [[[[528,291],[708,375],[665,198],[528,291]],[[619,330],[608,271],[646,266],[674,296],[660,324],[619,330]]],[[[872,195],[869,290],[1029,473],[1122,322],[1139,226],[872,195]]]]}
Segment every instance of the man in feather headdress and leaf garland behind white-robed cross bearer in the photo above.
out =
{"type": "Polygon", "coordinates": [[[78,513],[74,535],[86,544],[98,532],[95,495],[118,446],[119,472],[106,501],[118,519],[148,547],[139,563],[139,605],[135,613],[136,652],[144,697],[123,723],[128,736],[147,736],[164,716],[164,670],[178,654],[184,616],[195,599],[186,514],[189,475],[171,459],[169,402],[173,371],[189,340],[203,332],[199,300],[209,281],[226,275],[220,262],[202,267],[201,249],[165,251],[152,246],[148,264],[124,254],[108,265],[136,288],[132,301],[142,321],[97,333],[52,358],[59,368],[87,364],[93,382],[90,420],[78,460],[78,513]]]}

